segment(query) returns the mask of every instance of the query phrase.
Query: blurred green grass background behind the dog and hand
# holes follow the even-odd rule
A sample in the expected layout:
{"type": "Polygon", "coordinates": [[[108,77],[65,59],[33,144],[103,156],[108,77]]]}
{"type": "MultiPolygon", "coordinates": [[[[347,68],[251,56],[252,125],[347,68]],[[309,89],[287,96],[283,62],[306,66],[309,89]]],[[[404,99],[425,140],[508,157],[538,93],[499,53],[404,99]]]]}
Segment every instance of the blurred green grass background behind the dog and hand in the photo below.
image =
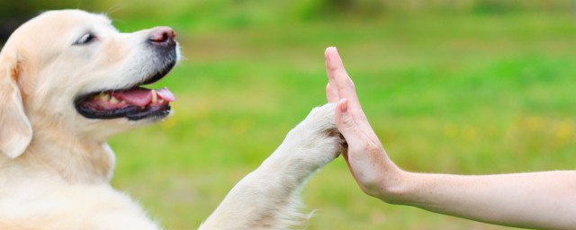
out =
{"type": "MultiPolygon", "coordinates": [[[[576,1],[2,1],[0,40],[45,10],[108,14],[121,31],[177,32],[184,59],[157,86],[165,122],[114,137],[113,186],[166,229],[191,229],[325,102],[337,46],[392,160],[427,173],[576,165],[576,1]]],[[[40,35],[39,35],[40,36],[40,35]]],[[[342,159],[303,190],[307,229],[509,229],[391,206],[342,159]]]]}

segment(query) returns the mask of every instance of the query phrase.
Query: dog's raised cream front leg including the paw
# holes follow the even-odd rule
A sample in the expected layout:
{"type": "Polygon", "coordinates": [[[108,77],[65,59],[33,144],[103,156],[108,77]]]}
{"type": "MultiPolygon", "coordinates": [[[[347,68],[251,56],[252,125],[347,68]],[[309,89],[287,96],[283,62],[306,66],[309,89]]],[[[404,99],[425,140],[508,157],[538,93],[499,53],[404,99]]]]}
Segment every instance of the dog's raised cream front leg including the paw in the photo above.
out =
{"type": "Polygon", "coordinates": [[[311,111],[273,155],[229,191],[200,229],[285,229],[305,223],[299,190],[306,179],[341,152],[335,104],[311,111]]]}

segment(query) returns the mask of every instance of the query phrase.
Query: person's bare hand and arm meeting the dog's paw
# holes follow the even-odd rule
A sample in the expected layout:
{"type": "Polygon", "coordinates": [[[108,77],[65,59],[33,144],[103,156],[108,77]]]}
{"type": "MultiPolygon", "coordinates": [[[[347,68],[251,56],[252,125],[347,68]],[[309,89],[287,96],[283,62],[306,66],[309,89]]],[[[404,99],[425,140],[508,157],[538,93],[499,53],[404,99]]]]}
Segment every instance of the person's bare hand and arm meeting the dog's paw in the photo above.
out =
{"type": "Polygon", "coordinates": [[[576,229],[576,171],[453,175],[410,173],[386,154],[336,48],[326,49],[329,102],[338,102],[344,159],[370,196],[475,221],[533,229],[576,229]]]}

